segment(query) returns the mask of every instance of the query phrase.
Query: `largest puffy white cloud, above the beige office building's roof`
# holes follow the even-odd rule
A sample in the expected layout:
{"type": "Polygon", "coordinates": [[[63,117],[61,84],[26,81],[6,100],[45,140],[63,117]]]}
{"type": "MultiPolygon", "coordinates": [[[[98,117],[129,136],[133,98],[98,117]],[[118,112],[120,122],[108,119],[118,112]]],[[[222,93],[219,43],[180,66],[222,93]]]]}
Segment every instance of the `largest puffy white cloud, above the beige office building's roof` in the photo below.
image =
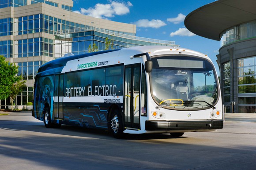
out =
{"type": "Polygon", "coordinates": [[[131,2],[120,3],[118,1],[110,1],[110,4],[96,4],[94,7],[88,9],[80,8],[75,13],[89,15],[95,18],[108,19],[113,18],[115,15],[124,15],[130,12],[129,7],[132,7],[131,2]]]}

